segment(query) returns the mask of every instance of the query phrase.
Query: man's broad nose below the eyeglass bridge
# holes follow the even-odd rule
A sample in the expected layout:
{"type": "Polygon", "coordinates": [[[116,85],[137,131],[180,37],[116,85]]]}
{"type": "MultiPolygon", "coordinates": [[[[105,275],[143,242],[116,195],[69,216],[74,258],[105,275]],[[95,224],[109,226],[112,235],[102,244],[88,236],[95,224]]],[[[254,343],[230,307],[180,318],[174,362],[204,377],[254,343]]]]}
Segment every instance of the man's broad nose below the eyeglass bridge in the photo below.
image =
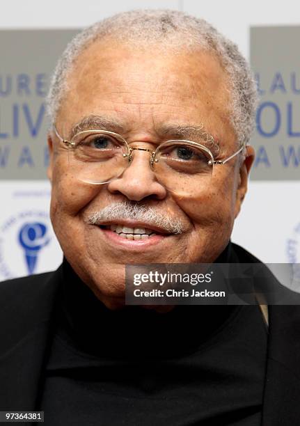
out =
{"type": "Polygon", "coordinates": [[[157,181],[150,167],[150,152],[132,151],[132,161],[119,178],[108,184],[112,194],[123,194],[129,200],[141,201],[144,198],[163,200],[166,188],[157,181]]]}

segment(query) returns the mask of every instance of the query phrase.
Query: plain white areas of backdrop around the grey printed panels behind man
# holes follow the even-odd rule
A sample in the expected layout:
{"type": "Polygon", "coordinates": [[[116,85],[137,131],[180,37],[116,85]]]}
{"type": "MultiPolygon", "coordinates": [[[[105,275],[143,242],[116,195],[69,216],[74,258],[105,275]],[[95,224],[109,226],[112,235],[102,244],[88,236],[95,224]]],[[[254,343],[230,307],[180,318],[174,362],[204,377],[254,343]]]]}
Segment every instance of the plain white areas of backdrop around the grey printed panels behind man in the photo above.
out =
{"type": "MultiPolygon", "coordinates": [[[[251,26],[299,25],[300,3],[292,0],[276,2],[271,0],[184,0],[184,1],[1,1],[0,29],[66,29],[79,28],[95,20],[132,8],[173,8],[184,10],[207,19],[219,31],[239,45],[243,54],[249,56],[249,35],[251,26]]],[[[33,181],[0,181],[0,280],[10,276],[1,271],[1,262],[6,265],[20,265],[16,276],[26,274],[22,260],[18,258],[15,243],[6,246],[5,254],[1,244],[8,244],[10,225],[17,211],[18,191],[22,197],[22,210],[49,210],[49,183],[33,181]],[[42,195],[41,195],[42,194],[42,195]],[[5,203],[3,203],[5,200],[5,203]],[[4,235],[4,237],[3,237],[4,235]],[[2,257],[2,258],[1,258],[2,257]],[[4,258],[3,258],[4,257],[4,258]],[[1,275],[2,274],[2,275],[1,275]]],[[[300,182],[250,182],[248,196],[236,221],[232,240],[241,244],[265,262],[288,262],[292,252],[300,262],[300,182]]],[[[11,229],[13,224],[11,225],[11,229]]],[[[46,250],[46,248],[45,248],[46,250]]],[[[52,244],[43,254],[35,273],[54,269],[61,262],[58,244],[52,244]],[[48,250],[48,251],[47,251],[48,250]]]]}

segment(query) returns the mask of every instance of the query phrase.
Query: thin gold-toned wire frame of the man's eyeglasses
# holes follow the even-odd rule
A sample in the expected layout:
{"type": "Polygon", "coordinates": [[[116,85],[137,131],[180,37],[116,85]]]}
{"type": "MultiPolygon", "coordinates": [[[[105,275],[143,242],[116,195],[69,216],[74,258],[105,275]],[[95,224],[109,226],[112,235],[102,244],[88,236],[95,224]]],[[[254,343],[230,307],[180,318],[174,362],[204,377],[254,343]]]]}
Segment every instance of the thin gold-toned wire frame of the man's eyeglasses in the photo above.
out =
{"type": "MultiPolygon", "coordinates": [[[[155,157],[157,155],[157,152],[161,148],[161,146],[164,146],[164,144],[170,143],[170,142],[184,142],[184,143],[188,143],[189,145],[194,146],[196,148],[203,149],[212,158],[212,159],[210,159],[208,161],[208,163],[207,163],[208,166],[213,166],[214,164],[220,164],[220,165],[226,164],[227,161],[229,161],[230,159],[232,159],[233,157],[235,157],[236,155],[238,155],[239,152],[242,152],[242,150],[244,150],[244,148],[246,148],[246,144],[243,143],[242,146],[241,146],[241,148],[239,148],[239,150],[237,150],[232,155],[230,155],[230,157],[227,157],[226,159],[223,159],[223,160],[215,160],[214,156],[212,155],[212,151],[209,148],[207,148],[206,146],[202,145],[201,143],[194,142],[194,141],[188,141],[186,139],[170,139],[168,141],[160,143],[155,150],[150,150],[149,148],[139,148],[139,147],[134,147],[134,146],[131,147],[131,146],[128,145],[126,139],[124,139],[123,136],[121,136],[120,134],[115,133],[115,132],[109,132],[108,130],[102,130],[102,129],[82,130],[81,132],[78,132],[77,134],[74,134],[74,136],[72,136],[72,139],[70,141],[67,141],[66,139],[63,139],[63,137],[58,133],[58,131],[56,129],[56,125],[53,125],[53,128],[54,128],[54,132],[55,132],[56,136],[58,137],[58,139],[61,141],[61,143],[63,143],[64,145],[68,146],[68,148],[69,147],[72,148],[72,147],[74,147],[74,145],[76,145],[72,141],[72,139],[74,139],[75,136],[78,136],[81,133],[95,133],[95,134],[96,133],[101,133],[101,134],[107,134],[108,136],[113,136],[117,140],[121,140],[121,141],[123,141],[125,143],[125,145],[127,147],[127,152],[129,152],[129,153],[123,154],[123,157],[128,157],[129,164],[132,161],[132,151],[151,152],[150,166],[152,168],[153,168],[153,164],[158,161],[158,159],[155,158],[155,157]]],[[[204,133],[207,134],[206,132],[204,132],[204,133]]],[[[214,141],[213,136],[211,136],[211,135],[208,135],[208,136],[209,136],[210,141],[214,141]]]]}

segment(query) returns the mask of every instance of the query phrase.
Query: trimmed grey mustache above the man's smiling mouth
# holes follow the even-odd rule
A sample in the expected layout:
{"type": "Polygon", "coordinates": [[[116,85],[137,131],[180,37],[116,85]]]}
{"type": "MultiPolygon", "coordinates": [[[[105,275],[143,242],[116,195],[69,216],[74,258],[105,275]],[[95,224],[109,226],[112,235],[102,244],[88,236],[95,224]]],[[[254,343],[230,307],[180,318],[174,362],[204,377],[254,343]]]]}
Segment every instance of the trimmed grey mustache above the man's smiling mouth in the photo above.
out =
{"type": "Polygon", "coordinates": [[[102,210],[90,214],[87,221],[91,225],[101,225],[104,221],[123,219],[143,221],[150,226],[157,226],[172,234],[181,234],[184,230],[182,221],[156,212],[152,207],[135,203],[113,203],[107,205],[102,210]]]}

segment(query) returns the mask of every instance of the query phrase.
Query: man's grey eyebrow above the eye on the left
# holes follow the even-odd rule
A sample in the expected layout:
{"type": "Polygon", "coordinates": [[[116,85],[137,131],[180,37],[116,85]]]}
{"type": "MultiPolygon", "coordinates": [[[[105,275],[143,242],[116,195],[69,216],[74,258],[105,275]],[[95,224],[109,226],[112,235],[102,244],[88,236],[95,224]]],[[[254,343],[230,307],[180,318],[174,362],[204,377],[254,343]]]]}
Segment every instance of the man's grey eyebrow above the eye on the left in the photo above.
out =
{"type": "Polygon", "coordinates": [[[106,118],[104,116],[95,116],[92,114],[90,116],[82,118],[79,123],[76,123],[72,126],[70,131],[70,139],[72,139],[72,137],[79,132],[94,129],[101,129],[114,133],[124,132],[124,127],[122,123],[120,123],[120,121],[111,120],[111,118],[106,118]]]}

